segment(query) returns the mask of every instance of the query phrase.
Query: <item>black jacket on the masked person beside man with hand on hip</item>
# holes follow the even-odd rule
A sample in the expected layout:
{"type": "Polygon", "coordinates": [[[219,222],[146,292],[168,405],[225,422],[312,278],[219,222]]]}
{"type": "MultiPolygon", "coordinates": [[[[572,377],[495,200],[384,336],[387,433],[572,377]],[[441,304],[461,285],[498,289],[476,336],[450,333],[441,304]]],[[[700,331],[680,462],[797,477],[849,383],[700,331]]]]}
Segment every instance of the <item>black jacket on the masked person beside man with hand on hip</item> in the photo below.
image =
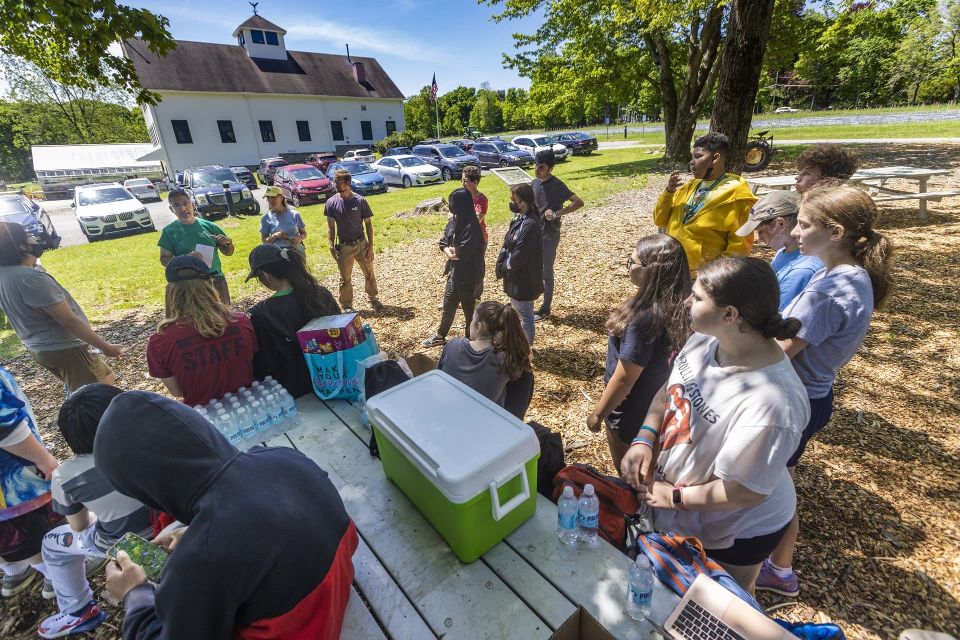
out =
{"type": "Polygon", "coordinates": [[[536,211],[527,211],[510,223],[503,248],[496,256],[496,277],[503,278],[503,292],[529,302],[543,293],[543,245],[536,211]],[[510,270],[507,270],[507,261],[510,270]]]}

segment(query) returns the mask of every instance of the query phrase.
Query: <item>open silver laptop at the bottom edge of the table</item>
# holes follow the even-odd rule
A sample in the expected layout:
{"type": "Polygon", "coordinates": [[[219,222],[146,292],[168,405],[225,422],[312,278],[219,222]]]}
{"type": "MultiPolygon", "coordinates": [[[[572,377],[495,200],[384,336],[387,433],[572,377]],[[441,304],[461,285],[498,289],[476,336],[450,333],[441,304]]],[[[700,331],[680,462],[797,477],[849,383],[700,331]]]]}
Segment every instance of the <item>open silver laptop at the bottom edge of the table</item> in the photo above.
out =
{"type": "Polygon", "coordinates": [[[797,640],[785,628],[704,574],[697,576],[663,627],[666,640],[797,640]]]}

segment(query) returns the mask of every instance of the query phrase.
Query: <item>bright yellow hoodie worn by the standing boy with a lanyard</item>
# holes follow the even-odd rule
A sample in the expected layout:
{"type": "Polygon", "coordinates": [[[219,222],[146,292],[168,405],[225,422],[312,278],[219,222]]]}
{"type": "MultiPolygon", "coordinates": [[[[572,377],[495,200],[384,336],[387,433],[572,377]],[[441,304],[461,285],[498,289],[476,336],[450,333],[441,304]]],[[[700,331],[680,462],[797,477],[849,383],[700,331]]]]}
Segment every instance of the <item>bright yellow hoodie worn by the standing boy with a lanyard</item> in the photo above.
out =
{"type": "MultiPolygon", "coordinates": [[[[654,207],[654,224],[680,241],[690,263],[690,275],[721,256],[747,255],[754,234],[743,238],[735,231],[747,222],[756,202],[747,180],[727,174],[707,196],[700,210],[684,225],[684,205],[702,180],[692,179],[674,193],[663,190],[654,207]]],[[[696,197],[694,196],[694,200],[696,197]]]]}

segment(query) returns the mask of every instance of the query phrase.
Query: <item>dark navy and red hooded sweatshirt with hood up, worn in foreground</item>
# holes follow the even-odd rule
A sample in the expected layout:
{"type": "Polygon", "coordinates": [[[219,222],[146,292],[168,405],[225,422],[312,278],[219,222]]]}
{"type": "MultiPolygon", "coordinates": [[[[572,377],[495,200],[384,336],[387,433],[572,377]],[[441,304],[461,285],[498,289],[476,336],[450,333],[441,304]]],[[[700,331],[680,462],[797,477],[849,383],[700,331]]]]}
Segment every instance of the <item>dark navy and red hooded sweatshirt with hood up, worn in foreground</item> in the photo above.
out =
{"type": "Polygon", "coordinates": [[[241,453],[149,391],[110,403],[93,454],[110,486],[189,525],[158,587],[124,598],[125,640],[336,640],[358,538],[326,472],[299,451],[241,453]]]}

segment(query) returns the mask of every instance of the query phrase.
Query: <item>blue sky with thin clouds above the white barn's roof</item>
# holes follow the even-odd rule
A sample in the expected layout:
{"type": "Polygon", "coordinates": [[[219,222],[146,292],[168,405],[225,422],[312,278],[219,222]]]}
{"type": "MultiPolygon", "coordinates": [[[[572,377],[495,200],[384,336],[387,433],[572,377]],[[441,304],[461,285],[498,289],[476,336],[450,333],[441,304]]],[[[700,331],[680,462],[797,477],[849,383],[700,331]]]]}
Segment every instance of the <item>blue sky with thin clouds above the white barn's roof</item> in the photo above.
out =
{"type": "MultiPolygon", "coordinates": [[[[165,15],[176,39],[225,44],[236,43],[233,29],[252,13],[245,0],[130,4],[165,15]]],[[[503,68],[502,54],[513,52],[513,34],[536,31],[540,16],[497,24],[490,19],[496,9],[476,0],[260,0],[257,6],[260,15],[287,30],[288,49],[346,54],[348,43],[351,54],[377,59],[408,96],[429,84],[435,71],[441,95],[485,81],[494,89],[528,87],[526,78],[503,68]]]]}

